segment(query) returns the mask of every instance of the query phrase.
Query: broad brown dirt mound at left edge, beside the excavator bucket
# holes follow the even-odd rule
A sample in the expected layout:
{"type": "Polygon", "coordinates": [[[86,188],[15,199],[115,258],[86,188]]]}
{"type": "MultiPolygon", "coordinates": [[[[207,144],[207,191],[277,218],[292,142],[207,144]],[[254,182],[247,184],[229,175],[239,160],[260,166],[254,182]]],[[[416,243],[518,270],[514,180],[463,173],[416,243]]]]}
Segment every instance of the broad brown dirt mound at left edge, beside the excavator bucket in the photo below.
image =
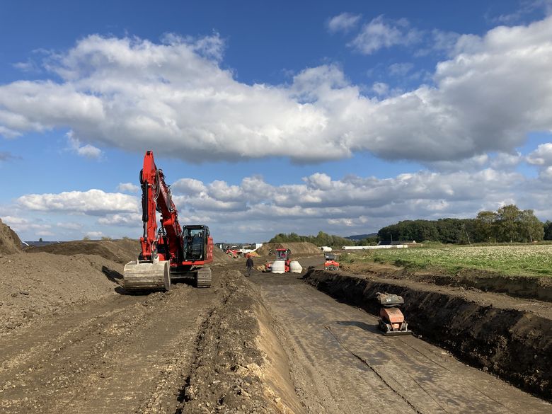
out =
{"type": "Polygon", "coordinates": [[[122,265],[98,255],[16,253],[0,258],[0,335],[40,316],[114,294],[122,265]]]}

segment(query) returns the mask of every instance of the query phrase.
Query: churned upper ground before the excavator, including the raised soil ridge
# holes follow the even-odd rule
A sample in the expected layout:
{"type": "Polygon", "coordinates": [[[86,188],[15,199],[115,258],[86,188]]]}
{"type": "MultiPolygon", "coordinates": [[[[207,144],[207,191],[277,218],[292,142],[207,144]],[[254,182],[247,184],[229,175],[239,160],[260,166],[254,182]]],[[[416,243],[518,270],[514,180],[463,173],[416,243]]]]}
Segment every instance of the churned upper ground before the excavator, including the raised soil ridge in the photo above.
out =
{"type": "Polygon", "coordinates": [[[271,321],[248,282],[221,267],[213,277],[210,289],[112,294],[4,335],[0,412],[299,412],[289,383],[265,379],[289,374],[263,350],[279,343],[263,339],[271,321]]]}

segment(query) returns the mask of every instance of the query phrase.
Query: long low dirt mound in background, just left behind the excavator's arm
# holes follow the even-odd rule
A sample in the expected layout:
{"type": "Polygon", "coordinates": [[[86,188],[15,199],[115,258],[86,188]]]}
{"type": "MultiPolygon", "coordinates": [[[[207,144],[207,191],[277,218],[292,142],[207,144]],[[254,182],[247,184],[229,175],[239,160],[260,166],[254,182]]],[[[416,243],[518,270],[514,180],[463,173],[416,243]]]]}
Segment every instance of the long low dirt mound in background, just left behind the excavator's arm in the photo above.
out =
{"type": "Polygon", "coordinates": [[[122,240],[76,240],[63,243],[48,244],[41,247],[25,249],[27,253],[53,253],[55,255],[98,255],[117,263],[128,263],[136,260],[140,251],[137,240],[125,238],[122,240]]]}

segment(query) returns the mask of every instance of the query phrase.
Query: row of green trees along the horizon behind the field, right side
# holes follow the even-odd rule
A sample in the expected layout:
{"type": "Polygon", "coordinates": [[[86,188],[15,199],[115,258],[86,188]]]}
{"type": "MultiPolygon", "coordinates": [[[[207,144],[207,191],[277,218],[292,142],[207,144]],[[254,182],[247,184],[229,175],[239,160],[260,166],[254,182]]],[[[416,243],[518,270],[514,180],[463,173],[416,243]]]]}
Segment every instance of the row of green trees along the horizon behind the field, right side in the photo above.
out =
{"type": "Polygon", "coordinates": [[[316,246],[367,246],[378,241],[436,241],[440,243],[527,243],[552,240],[552,222],[541,222],[532,209],[505,205],[497,211],[478,212],[474,219],[404,220],[378,231],[377,237],[361,241],[319,231],[316,236],[277,234],[270,243],[307,241],[316,246]]]}

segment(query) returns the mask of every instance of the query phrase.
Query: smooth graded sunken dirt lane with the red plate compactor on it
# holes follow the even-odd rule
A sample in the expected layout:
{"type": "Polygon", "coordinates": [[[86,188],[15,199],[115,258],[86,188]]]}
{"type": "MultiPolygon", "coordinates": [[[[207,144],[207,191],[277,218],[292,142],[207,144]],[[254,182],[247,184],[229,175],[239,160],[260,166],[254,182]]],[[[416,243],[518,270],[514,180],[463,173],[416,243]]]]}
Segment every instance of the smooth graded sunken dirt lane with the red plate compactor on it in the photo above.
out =
{"type": "Polygon", "coordinates": [[[552,407],[415,336],[384,337],[376,317],[297,278],[255,274],[280,321],[309,413],[546,413],[552,407]]]}

